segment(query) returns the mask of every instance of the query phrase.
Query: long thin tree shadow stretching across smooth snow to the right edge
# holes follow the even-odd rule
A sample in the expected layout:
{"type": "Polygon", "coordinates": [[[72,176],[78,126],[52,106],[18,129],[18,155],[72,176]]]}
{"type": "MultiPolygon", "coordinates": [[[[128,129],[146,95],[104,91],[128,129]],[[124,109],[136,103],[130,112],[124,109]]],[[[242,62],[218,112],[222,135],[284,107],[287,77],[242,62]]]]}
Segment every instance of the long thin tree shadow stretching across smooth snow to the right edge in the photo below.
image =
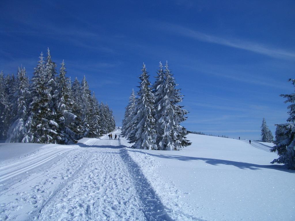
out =
{"type": "Polygon", "coordinates": [[[266,168],[266,169],[280,170],[280,171],[284,171],[284,172],[288,172],[288,173],[295,173],[294,170],[287,169],[287,167],[285,165],[277,165],[277,164],[276,165],[259,165],[259,164],[231,161],[231,160],[192,157],[192,156],[168,155],[168,154],[151,154],[149,152],[143,152],[143,151],[139,151],[139,150],[134,150],[134,151],[149,154],[149,155],[155,156],[155,157],[165,158],[165,159],[175,159],[175,160],[181,160],[181,161],[203,160],[203,161],[205,161],[205,163],[211,164],[214,166],[224,164],[224,165],[236,166],[240,169],[260,170],[260,168],[266,168]]]}

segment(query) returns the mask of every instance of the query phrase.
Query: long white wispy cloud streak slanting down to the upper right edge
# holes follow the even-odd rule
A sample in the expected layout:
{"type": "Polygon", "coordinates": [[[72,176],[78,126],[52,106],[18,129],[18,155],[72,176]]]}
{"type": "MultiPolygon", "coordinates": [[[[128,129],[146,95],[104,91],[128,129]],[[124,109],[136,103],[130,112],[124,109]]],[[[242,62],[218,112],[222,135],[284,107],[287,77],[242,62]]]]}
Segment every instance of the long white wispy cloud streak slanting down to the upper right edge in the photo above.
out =
{"type": "Polygon", "coordinates": [[[242,39],[235,38],[224,38],[217,37],[210,34],[204,34],[193,29],[189,29],[180,25],[160,22],[161,28],[166,31],[173,32],[191,39],[195,39],[202,42],[210,42],[214,44],[220,44],[228,47],[238,48],[242,50],[247,50],[255,52],[262,55],[267,55],[270,57],[279,57],[284,59],[295,59],[295,52],[287,51],[280,48],[274,48],[271,46],[266,46],[260,43],[250,42],[242,39]]]}

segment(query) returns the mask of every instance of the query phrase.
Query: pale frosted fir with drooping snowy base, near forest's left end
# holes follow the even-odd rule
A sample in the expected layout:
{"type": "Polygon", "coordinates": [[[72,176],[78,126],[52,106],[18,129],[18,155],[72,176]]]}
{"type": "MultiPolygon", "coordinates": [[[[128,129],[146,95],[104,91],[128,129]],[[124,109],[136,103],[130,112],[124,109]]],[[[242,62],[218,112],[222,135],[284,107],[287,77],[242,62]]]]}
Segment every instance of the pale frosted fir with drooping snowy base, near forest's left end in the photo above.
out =
{"type": "Polygon", "coordinates": [[[25,68],[22,67],[19,68],[17,73],[17,90],[14,94],[13,109],[16,110],[16,114],[13,118],[14,122],[9,128],[6,142],[29,142],[26,126],[29,97],[29,80],[25,68]]]}

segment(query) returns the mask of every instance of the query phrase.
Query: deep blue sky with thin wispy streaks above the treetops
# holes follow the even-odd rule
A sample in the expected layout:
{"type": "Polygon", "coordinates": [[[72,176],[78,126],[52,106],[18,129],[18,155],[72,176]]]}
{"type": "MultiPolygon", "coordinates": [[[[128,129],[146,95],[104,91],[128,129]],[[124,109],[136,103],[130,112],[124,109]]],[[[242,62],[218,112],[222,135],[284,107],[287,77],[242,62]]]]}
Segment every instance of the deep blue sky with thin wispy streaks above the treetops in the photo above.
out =
{"type": "MultiPolygon", "coordinates": [[[[188,130],[260,139],[288,117],[280,94],[295,70],[295,1],[0,2],[0,70],[29,76],[40,52],[83,75],[121,124],[142,63],[168,64],[190,111],[188,130]]],[[[59,69],[59,67],[58,67],[59,69]]]]}

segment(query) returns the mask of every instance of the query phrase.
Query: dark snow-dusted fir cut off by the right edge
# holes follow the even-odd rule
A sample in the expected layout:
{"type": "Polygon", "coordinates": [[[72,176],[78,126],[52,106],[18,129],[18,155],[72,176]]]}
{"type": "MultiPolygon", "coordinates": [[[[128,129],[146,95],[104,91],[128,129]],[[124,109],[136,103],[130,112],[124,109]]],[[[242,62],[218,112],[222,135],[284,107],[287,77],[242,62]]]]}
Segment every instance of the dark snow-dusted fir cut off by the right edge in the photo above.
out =
{"type": "MultiPolygon", "coordinates": [[[[295,87],[295,79],[289,79],[295,87]]],[[[289,123],[279,124],[279,134],[277,134],[276,144],[271,149],[271,152],[278,153],[278,159],[274,159],[271,164],[286,164],[289,169],[295,169],[295,93],[281,94],[281,97],[287,98],[285,103],[291,103],[288,106],[289,123]]]]}

